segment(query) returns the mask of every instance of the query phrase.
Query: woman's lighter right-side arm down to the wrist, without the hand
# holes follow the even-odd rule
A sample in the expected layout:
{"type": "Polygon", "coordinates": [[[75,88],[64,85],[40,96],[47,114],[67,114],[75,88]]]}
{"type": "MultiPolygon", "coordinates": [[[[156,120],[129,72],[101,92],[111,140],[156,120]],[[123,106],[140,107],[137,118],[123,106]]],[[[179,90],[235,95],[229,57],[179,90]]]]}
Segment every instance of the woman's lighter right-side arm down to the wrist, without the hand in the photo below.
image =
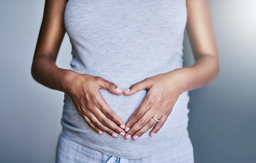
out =
{"type": "Polygon", "coordinates": [[[187,1],[187,33],[195,58],[184,71],[184,91],[202,88],[219,74],[219,53],[210,17],[210,1],[187,1]]]}

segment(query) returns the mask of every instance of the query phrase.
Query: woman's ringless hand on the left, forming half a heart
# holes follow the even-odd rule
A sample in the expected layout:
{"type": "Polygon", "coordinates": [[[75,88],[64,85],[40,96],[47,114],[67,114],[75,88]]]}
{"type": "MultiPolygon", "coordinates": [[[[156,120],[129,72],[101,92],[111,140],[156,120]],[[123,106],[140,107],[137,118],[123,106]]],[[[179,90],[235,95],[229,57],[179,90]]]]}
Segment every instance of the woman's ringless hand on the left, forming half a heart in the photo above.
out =
{"type": "Polygon", "coordinates": [[[75,71],[68,71],[61,83],[78,113],[93,130],[99,134],[107,132],[115,138],[118,134],[125,136],[125,122],[114,113],[100,93],[101,88],[116,95],[123,94],[123,90],[102,77],[75,71]]]}

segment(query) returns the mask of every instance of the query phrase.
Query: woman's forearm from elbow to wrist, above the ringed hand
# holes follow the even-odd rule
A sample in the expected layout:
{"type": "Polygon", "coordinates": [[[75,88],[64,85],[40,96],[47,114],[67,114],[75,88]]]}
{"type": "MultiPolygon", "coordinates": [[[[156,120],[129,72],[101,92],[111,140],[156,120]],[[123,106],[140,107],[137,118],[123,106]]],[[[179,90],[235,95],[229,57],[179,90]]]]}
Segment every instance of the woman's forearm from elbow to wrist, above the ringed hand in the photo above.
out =
{"type": "Polygon", "coordinates": [[[202,88],[219,74],[219,58],[202,55],[194,65],[174,70],[182,92],[202,88]]]}

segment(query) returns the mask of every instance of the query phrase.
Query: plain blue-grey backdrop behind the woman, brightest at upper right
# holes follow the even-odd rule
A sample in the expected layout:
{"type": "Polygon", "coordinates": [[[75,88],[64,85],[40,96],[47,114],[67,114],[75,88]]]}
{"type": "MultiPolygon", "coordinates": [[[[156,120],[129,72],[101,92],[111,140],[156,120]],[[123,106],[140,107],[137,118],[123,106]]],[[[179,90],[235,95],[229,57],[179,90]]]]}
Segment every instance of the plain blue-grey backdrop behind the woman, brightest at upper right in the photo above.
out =
{"type": "MultiPolygon", "coordinates": [[[[256,1],[212,0],[221,73],[190,92],[195,162],[256,162],[256,1]]],[[[30,69],[44,1],[0,0],[0,162],[54,162],[63,93],[30,69]]],[[[187,36],[185,65],[193,64],[187,36]]],[[[67,35],[57,65],[69,68],[67,35]]]]}

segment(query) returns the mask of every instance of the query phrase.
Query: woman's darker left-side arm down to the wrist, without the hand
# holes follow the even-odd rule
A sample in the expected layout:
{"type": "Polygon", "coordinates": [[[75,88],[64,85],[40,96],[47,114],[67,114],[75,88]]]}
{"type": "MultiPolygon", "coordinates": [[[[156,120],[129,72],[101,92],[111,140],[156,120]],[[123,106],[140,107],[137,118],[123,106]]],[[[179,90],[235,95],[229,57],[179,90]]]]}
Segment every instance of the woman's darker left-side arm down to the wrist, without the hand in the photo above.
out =
{"type": "Polygon", "coordinates": [[[46,1],[31,67],[31,74],[37,82],[60,91],[64,91],[61,79],[68,72],[55,65],[65,35],[63,22],[65,3],[65,0],[46,1]]]}

